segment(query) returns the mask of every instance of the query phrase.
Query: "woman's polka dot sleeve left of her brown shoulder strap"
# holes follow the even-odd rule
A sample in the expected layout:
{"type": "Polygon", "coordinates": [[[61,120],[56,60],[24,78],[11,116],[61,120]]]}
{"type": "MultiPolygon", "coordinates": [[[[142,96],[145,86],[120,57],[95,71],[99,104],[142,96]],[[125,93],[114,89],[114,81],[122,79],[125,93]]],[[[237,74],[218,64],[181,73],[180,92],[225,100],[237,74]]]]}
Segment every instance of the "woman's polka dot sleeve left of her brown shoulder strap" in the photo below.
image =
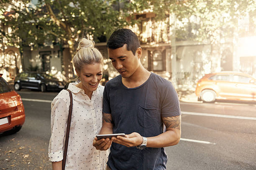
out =
{"type": "Polygon", "coordinates": [[[51,138],[49,142],[49,160],[58,162],[63,160],[64,139],[69,114],[69,99],[54,98],[51,103],[51,138]]]}

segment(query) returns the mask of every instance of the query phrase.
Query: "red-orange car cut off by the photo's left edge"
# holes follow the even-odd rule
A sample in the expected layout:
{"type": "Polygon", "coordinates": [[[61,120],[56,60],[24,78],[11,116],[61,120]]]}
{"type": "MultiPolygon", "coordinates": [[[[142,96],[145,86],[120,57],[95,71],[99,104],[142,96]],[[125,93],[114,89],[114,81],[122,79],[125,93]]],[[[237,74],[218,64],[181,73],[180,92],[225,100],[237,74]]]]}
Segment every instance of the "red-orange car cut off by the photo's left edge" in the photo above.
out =
{"type": "Polygon", "coordinates": [[[25,111],[20,95],[0,74],[0,133],[18,132],[25,122],[25,111]]]}

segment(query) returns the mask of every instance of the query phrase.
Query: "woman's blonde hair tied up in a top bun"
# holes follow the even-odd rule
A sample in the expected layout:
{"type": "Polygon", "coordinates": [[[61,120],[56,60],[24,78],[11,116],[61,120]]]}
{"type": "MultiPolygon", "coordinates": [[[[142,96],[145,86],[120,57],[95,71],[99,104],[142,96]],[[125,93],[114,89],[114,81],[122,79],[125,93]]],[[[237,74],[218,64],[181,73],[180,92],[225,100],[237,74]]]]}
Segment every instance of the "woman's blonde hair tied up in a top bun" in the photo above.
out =
{"type": "Polygon", "coordinates": [[[73,64],[77,70],[81,70],[84,64],[102,63],[103,57],[97,48],[95,42],[82,38],[77,47],[77,53],[74,55],[73,64]]]}

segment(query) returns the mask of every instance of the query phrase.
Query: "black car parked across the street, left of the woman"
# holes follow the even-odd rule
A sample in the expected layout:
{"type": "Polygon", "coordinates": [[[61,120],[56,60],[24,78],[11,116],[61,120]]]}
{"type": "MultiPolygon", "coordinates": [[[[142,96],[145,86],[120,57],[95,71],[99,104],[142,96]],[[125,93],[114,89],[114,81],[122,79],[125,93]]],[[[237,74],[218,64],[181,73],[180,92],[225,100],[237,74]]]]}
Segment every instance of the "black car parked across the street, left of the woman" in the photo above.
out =
{"type": "Polygon", "coordinates": [[[21,72],[14,79],[15,90],[21,88],[38,89],[41,92],[47,90],[62,90],[65,82],[59,81],[46,73],[21,72]]]}

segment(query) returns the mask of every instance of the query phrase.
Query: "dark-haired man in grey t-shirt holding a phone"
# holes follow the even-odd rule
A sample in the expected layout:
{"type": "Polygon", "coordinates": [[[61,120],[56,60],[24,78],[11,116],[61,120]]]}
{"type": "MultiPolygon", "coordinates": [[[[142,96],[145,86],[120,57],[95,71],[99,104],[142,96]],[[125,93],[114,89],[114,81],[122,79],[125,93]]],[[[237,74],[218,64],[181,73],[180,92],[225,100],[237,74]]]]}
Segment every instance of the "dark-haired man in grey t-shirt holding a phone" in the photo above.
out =
{"type": "Polygon", "coordinates": [[[107,47],[120,75],[105,85],[100,134],[128,135],[95,138],[93,145],[98,150],[111,146],[111,170],[166,170],[164,147],[176,145],[181,136],[177,92],[171,82],[142,66],[140,42],[131,30],[115,30],[107,47]]]}

